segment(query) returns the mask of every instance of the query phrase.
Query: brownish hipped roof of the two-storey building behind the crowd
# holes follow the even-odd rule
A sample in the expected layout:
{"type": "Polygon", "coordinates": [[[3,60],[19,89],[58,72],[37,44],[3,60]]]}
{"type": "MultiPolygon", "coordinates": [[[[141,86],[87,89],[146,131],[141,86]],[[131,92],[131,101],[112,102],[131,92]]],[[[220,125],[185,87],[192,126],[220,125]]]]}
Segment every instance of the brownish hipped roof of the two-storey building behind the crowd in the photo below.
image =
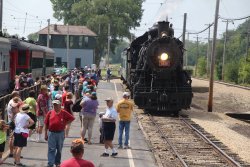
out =
{"type": "MultiPolygon", "coordinates": [[[[38,34],[48,34],[48,27],[43,28],[37,32],[38,34]]],[[[67,35],[68,26],[67,25],[50,25],[51,35],[67,35]]],[[[88,29],[86,26],[72,26],[69,25],[69,35],[84,35],[84,36],[97,36],[96,33],[88,29]]]]}

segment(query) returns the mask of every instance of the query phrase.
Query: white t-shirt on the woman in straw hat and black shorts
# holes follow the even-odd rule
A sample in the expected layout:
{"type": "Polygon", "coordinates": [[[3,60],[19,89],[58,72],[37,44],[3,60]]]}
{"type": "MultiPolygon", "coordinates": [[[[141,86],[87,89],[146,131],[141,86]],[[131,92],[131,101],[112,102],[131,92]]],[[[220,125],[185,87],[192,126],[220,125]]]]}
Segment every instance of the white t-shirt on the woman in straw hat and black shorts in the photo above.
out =
{"type": "Polygon", "coordinates": [[[29,133],[28,128],[24,128],[26,125],[29,124],[30,117],[26,113],[17,113],[16,118],[15,118],[15,133],[29,133]]]}

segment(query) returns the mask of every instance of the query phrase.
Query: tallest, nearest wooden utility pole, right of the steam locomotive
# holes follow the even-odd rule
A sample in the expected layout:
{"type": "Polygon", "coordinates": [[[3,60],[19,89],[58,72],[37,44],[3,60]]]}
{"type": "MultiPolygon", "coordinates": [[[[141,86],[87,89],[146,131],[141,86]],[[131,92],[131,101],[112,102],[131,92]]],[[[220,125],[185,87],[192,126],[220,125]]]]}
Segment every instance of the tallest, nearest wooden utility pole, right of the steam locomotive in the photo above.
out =
{"type": "Polygon", "coordinates": [[[216,57],[216,38],[217,38],[217,27],[218,27],[218,17],[219,17],[219,6],[220,0],[216,1],[215,17],[214,17],[214,35],[213,35],[213,45],[212,45],[212,58],[211,58],[211,68],[210,68],[210,80],[209,80],[209,97],[208,97],[208,112],[213,111],[213,89],[214,89],[214,63],[216,57]]]}

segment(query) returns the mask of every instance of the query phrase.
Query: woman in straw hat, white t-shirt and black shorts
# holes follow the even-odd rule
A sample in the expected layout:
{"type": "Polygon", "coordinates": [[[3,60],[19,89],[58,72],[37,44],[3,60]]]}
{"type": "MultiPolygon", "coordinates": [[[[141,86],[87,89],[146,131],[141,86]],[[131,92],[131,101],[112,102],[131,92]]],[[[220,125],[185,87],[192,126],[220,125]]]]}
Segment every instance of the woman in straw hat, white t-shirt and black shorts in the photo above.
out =
{"type": "Polygon", "coordinates": [[[29,136],[29,127],[34,124],[34,121],[28,116],[29,105],[23,104],[19,107],[19,113],[15,117],[15,130],[14,130],[14,146],[16,147],[15,162],[16,166],[23,166],[20,163],[21,151],[23,147],[27,146],[27,138],[29,136]]]}

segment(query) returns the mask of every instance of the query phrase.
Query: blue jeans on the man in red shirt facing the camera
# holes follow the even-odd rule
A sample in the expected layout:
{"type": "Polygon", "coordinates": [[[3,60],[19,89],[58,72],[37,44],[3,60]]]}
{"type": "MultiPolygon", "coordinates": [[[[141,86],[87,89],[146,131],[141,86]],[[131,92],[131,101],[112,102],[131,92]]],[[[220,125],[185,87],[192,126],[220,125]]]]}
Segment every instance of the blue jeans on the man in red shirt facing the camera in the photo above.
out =
{"type": "Polygon", "coordinates": [[[61,154],[64,142],[64,131],[55,133],[48,132],[48,165],[61,164],[61,154]]]}

